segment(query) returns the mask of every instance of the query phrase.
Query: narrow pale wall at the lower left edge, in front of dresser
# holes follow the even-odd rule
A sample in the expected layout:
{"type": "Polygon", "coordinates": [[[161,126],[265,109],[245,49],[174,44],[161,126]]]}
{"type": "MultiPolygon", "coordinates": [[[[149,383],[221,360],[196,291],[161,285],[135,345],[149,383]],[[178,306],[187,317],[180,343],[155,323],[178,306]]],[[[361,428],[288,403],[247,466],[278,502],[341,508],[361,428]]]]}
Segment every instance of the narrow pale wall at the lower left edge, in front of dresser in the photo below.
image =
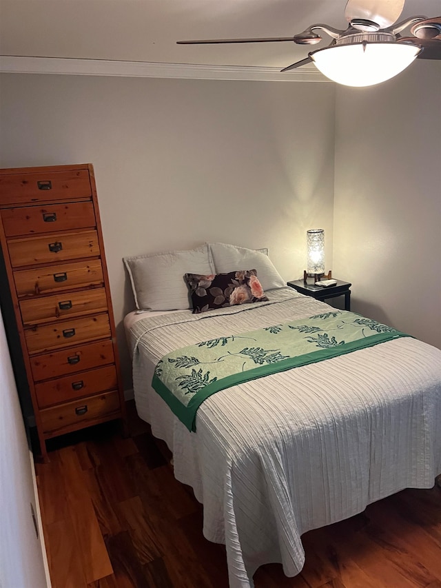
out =
{"type": "Polygon", "coordinates": [[[32,523],[31,504],[39,507],[19,397],[0,310],[0,586],[48,586],[41,526],[40,540],[32,523]]]}

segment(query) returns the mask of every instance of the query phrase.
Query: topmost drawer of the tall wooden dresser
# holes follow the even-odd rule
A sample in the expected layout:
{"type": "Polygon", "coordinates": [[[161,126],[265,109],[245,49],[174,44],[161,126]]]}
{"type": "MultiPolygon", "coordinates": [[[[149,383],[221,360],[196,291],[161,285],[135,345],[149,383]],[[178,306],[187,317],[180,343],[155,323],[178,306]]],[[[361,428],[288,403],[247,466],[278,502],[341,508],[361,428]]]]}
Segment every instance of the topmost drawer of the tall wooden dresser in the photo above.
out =
{"type": "Polygon", "coordinates": [[[0,205],[90,198],[88,170],[0,175],[0,205]]]}

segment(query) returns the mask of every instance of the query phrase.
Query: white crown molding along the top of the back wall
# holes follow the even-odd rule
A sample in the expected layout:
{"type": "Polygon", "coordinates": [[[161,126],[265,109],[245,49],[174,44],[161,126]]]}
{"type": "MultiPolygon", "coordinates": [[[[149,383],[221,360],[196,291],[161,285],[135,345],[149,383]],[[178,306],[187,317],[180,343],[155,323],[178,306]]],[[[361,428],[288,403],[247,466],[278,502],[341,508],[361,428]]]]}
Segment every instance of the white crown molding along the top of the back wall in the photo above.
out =
{"type": "Polygon", "coordinates": [[[313,66],[281,73],[278,68],[242,65],[192,65],[149,61],[107,61],[61,57],[0,56],[0,72],[12,74],[58,74],[176,79],[329,82],[313,66]]]}

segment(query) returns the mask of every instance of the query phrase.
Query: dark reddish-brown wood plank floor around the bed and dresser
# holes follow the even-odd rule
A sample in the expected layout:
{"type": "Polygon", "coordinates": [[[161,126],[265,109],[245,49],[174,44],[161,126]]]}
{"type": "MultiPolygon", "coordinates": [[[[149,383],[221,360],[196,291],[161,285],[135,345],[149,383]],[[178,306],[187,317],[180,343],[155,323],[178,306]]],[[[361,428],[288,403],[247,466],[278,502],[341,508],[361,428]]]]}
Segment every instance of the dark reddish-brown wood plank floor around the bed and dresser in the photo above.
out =
{"type": "MultiPolygon", "coordinates": [[[[205,540],[201,505],[128,405],[131,438],[100,425],[37,464],[53,588],[227,588],[225,548],[205,540]]],[[[441,588],[441,489],[404,490],[302,539],[302,573],[266,565],[256,588],[441,588]]]]}

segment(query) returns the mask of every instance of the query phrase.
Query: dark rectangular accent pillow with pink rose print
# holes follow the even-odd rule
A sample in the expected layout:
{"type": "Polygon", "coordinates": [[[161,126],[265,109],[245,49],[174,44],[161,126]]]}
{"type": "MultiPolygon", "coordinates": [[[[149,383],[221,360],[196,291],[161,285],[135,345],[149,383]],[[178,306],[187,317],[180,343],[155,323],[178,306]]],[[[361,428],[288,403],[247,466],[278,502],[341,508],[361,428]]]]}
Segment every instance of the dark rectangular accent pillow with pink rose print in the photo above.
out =
{"type": "Polygon", "coordinates": [[[228,274],[185,274],[193,303],[193,312],[206,312],[238,304],[263,302],[268,298],[258,281],[256,270],[228,274]]]}

